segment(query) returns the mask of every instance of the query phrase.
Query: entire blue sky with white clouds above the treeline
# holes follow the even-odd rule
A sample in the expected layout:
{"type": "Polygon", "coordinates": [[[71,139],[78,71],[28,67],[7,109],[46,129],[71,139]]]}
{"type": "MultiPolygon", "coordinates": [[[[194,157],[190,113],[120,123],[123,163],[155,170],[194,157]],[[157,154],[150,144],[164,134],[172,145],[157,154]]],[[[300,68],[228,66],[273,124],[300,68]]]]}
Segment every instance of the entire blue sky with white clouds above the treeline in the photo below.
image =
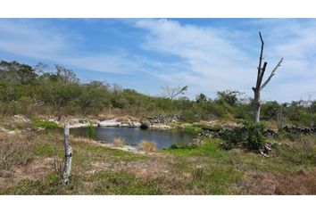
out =
{"type": "Polygon", "coordinates": [[[0,19],[0,59],[62,64],[81,82],[117,83],[146,95],[188,86],[187,96],[253,96],[261,42],[262,100],[316,99],[315,19],[0,19]],[[264,79],[265,79],[264,78],[264,79]]]}

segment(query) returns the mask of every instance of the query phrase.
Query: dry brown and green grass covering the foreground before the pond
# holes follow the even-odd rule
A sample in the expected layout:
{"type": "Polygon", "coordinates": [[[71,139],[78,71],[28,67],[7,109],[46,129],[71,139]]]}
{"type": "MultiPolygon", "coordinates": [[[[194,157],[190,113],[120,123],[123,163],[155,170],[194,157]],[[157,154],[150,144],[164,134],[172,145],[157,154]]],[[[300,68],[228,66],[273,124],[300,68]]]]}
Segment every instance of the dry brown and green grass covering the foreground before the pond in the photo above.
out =
{"type": "MultiPolygon", "coordinates": [[[[142,141],[140,150],[154,152],[146,155],[71,136],[73,189],[61,192],[62,133],[0,133],[0,194],[316,194],[316,138],[301,138],[279,139],[282,146],[263,159],[222,151],[217,141],[169,152],[155,152],[153,142],[142,141]]],[[[124,139],[114,144],[123,146],[124,139]]]]}

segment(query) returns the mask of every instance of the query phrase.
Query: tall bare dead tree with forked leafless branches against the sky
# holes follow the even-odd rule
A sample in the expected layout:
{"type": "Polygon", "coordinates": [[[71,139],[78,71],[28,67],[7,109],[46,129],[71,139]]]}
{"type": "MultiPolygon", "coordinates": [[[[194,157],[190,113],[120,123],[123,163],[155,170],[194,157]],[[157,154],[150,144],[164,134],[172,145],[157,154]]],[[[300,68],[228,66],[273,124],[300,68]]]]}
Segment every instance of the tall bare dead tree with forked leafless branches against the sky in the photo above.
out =
{"type": "Polygon", "coordinates": [[[270,82],[271,78],[275,75],[275,72],[277,71],[277,69],[279,68],[279,66],[281,65],[281,63],[283,61],[283,58],[281,58],[281,60],[277,64],[277,66],[271,71],[270,76],[262,84],[262,78],[264,76],[264,72],[265,72],[265,70],[267,68],[268,62],[264,62],[263,65],[262,65],[262,60],[263,60],[262,54],[263,54],[264,42],[263,42],[263,39],[262,39],[262,33],[261,32],[259,32],[259,37],[260,37],[260,40],[262,42],[262,48],[261,48],[260,58],[259,58],[257,82],[256,82],[255,87],[253,87],[253,90],[254,90],[254,121],[255,122],[259,122],[260,121],[260,109],[261,109],[260,93],[261,93],[262,89],[265,86],[268,85],[268,83],[270,82]]]}

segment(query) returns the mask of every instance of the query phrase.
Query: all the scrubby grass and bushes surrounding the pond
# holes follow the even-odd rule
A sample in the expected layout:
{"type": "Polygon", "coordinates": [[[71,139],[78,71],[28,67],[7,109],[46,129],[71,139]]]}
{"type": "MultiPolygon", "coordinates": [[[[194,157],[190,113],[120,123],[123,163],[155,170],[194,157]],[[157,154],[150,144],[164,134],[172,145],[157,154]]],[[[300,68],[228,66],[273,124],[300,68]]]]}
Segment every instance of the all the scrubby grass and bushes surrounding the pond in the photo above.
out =
{"type": "Polygon", "coordinates": [[[195,100],[181,92],[171,99],[98,81],[83,84],[60,65],[52,70],[2,61],[0,193],[316,194],[316,136],[282,128],[277,136],[263,135],[278,128],[280,106],[283,126],[313,127],[316,102],[311,100],[263,102],[262,123],[253,123],[252,99],[237,91],[195,100]],[[58,121],[159,114],[181,115],[181,121],[168,125],[195,133],[197,143],[159,151],[154,143],[142,142],[138,149],[145,152],[127,152],[122,138],[109,142],[117,149],[97,143],[90,123],[88,137],[71,135],[71,180],[63,184],[58,121]],[[267,144],[269,155],[262,155],[267,144]]]}

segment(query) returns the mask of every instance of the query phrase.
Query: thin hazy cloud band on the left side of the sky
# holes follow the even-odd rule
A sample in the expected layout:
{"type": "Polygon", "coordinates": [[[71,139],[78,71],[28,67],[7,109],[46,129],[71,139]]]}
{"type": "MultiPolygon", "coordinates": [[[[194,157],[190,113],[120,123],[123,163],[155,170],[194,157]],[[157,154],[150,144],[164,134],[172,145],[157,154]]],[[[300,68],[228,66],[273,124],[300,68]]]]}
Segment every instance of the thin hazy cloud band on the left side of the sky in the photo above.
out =
{"type": "Polygon", "coordinates": [[[40,21],[0,21],[0,50],[38,61],[62,63],[72,68],[110,73],[140,70],[133,56],[124,51],[88,54],[78,50],[77,36],[40,21]]]}

